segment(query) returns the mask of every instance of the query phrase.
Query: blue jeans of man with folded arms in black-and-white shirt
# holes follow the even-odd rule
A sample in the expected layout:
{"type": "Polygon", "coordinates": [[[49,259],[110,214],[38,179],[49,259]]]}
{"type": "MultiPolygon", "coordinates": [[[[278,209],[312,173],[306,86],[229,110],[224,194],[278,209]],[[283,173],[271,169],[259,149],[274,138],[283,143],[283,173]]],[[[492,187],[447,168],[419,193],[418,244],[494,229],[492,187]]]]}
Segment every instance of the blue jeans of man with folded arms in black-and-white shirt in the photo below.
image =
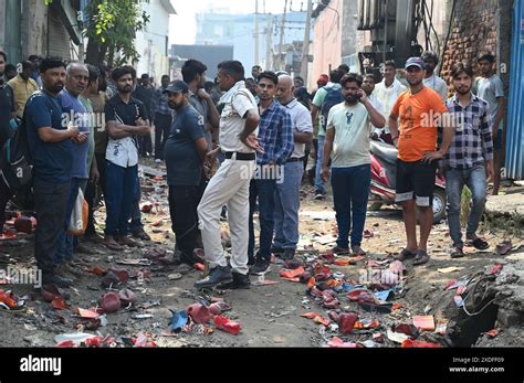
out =
{"type": "Polygon", "coordinates": [[[136,202],[138,166],[122,168],[107,161],[106,168],[106,235],[127,235],[129,219],[136,202]]]}

